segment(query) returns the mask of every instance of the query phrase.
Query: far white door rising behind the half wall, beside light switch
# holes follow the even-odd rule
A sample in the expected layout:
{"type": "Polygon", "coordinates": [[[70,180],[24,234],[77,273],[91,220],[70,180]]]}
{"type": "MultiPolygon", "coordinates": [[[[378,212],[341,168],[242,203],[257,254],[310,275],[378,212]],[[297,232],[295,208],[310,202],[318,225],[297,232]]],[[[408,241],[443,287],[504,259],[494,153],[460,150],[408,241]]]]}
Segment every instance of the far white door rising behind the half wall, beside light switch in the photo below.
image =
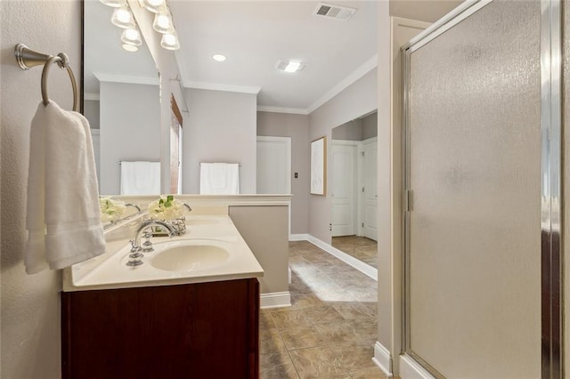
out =
{"type": "Polygon", "coordinates": [[[289,137],[257,137],[257,193],[291,193],[289,137]]]}

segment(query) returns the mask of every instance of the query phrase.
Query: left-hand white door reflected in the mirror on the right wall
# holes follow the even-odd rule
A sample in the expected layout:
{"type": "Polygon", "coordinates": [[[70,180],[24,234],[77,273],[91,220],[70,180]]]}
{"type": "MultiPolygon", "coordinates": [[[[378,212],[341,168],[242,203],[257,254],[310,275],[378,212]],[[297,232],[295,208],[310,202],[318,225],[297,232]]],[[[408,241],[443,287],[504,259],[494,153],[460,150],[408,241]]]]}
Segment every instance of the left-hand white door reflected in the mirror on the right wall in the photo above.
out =
{"type": "Polygon", "coordinates": [[[332,141],[332,236],[354,236],[354,141],[332,141]]]}

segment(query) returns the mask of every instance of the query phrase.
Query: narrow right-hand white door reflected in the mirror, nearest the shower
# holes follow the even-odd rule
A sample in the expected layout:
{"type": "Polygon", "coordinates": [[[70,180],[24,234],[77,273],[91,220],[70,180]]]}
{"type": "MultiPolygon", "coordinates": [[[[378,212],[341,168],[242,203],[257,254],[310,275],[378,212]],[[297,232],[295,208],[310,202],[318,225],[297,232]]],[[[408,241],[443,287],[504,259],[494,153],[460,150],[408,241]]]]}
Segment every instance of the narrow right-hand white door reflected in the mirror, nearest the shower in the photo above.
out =
{"type": "Polygon", "coordinates": [[[377,157],[378,139],[363,141],[364,148],[364,190],[363,190],[363,226],[364,237],[378,239],[378,181],[377,157]]]}

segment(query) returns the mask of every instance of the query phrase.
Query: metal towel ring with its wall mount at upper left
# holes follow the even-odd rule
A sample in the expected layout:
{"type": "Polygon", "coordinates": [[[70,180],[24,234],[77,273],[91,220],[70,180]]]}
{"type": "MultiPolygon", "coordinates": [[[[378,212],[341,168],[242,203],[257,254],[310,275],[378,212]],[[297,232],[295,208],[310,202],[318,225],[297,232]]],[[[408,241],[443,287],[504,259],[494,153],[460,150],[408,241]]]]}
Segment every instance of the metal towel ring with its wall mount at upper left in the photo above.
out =
{"type": "Polygon", "coordinates": [[[67,54],[60,52],[56,56],[44,54],[42,52],[35,52],[28,48],[25,44],[17,44],[14,51],[16,60],[20,65],[20,69],[31,69],[32,67],[44,65],[42,70],[42,101],[44,105],[50,103],[50,98],[47,94],[47,74],[49,72],[50,66],[53,63],[57,63],[60,69],[67,69],[69,74],[69,80],[71,80],[71,86],[73,87],[73,110],[79,111],[79,102],[77,101],[77,82],[73,71],[69,67],[69,57],[67,54]]]}

